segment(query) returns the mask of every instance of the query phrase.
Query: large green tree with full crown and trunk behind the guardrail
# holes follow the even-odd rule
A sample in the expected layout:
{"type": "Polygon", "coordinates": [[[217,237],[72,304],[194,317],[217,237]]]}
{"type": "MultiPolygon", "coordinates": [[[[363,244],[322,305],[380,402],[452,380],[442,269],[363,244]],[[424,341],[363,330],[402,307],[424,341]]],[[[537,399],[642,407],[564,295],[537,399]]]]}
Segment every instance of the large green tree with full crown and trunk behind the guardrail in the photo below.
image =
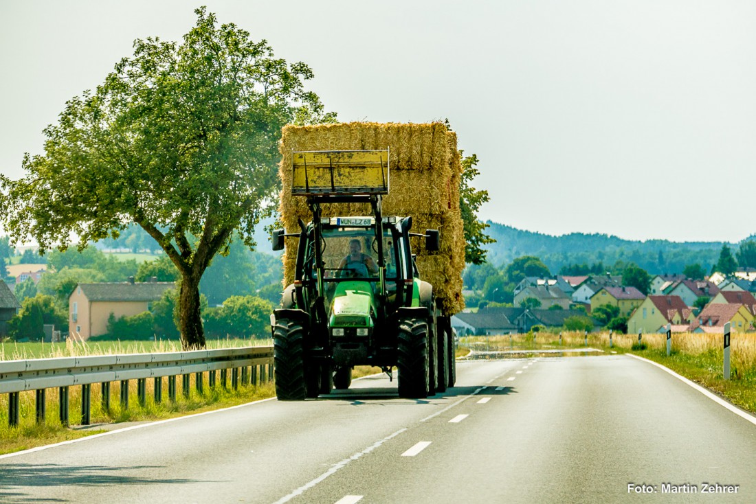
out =
{"type": "Polygon", "coordinates": [[[15,240],[79,248],[136,223],[181,274],[184,348],[203,348],[200,279],[234,230],[249,246],[277,199],[280,128],[323,122],[304,63],[274,57],[234,24],[197,9],[181,43],[137,40],[94,91],[45,128],[45,154],[2,177],[0,216],[15,240]]]}

